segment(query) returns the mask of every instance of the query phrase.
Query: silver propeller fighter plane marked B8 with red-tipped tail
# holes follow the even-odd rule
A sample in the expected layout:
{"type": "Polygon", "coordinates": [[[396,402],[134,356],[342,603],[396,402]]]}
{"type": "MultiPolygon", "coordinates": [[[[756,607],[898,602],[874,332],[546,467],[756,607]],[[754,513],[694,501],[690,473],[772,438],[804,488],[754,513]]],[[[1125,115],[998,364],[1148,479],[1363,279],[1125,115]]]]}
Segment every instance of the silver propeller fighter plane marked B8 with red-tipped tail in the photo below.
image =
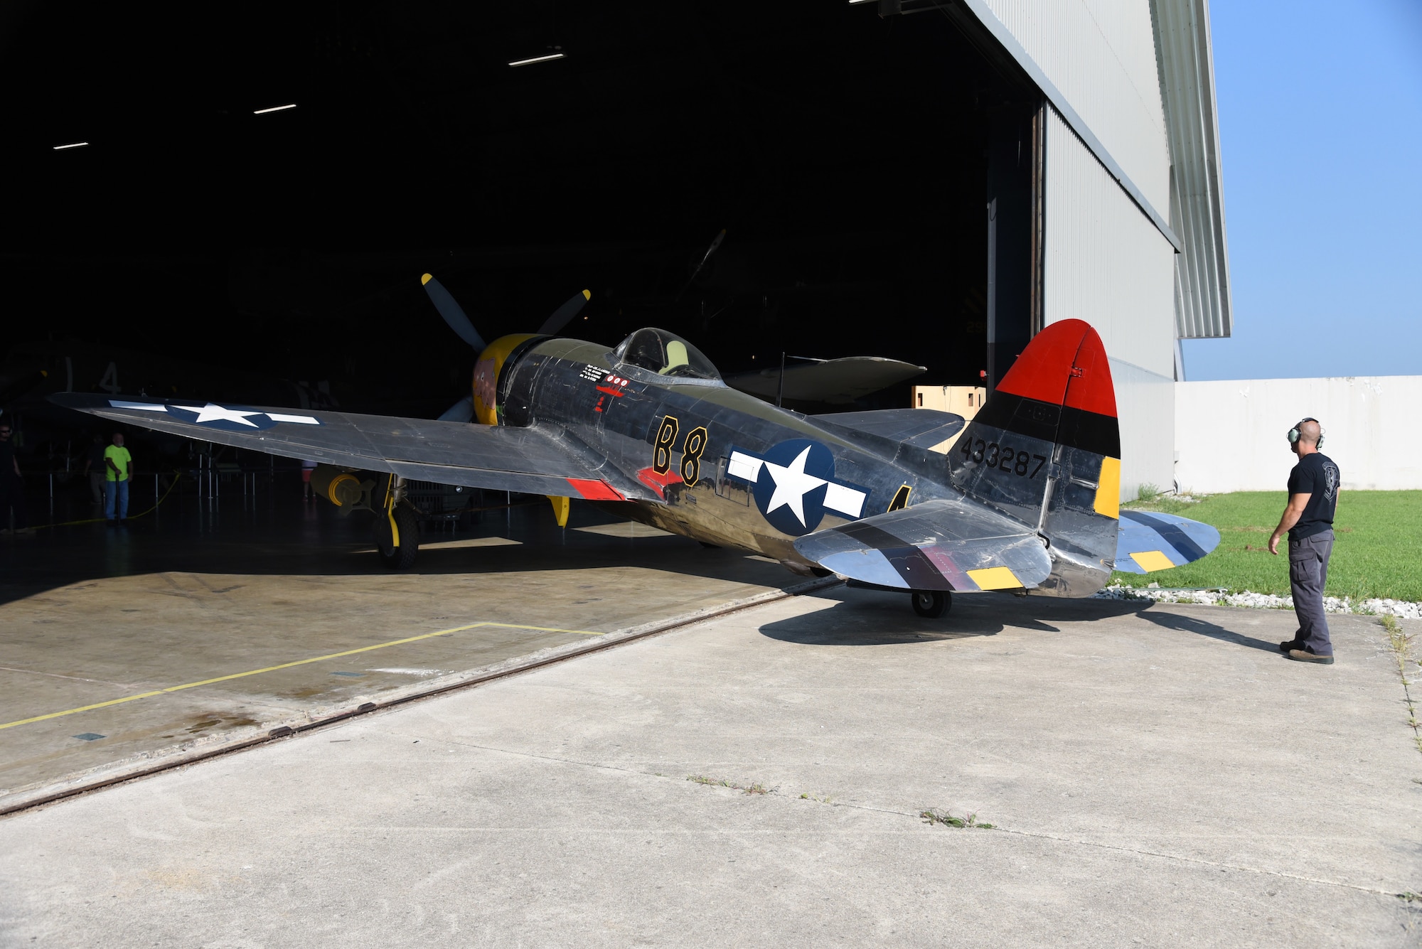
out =
{"type": "Polygon", "coordinates": [[[485,344],[429,274],[425,290],[479,357],[439,419],[63,394],[54,402],[162,432],[321,463],[313,483],[375,513],[391,567],[414,563],[410,479],[569,499],[802,574],[909,591],[939,617],[953,592],[1096,592],[1112,568],[1206,555],[1219,533],[1119,510],[1121,435],[1106,352],[1079,320],[1042,330],[964,419],[929,409],[802,415],[727,386],[687,340],[638,330],[617,347],[538,334],[485,344]],[[933,450],[958,435],[944,455],[933,450]]]}

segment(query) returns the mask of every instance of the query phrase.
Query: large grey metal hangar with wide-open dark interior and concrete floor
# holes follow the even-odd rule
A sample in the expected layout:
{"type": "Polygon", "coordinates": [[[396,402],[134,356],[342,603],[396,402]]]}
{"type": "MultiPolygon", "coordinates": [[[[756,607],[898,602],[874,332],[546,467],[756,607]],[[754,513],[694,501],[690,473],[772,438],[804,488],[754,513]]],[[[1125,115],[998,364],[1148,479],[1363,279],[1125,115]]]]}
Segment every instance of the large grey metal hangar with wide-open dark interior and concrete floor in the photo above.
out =
{"type": "MultiPolygon", "coordinates": [[[[75,477],[94,429],[55,392],[435,419],[469,395],[474,357],[425,273],[488,340],[587,288],[567,335],[660,327],[722,374],[876,355],[926,367],[914,384],[994,386],[1037,334],[1084,320],[1111,361],[1129,496],[1172,480],[1177,341],[1230,330],[1203,0],[330,0],[182,23],[28,3],[6,9],[0,53],[0,406],[31,514],[50,489],[47,527],[0,543],[0,813],[80,771],[267,740],[802,581],[587,506],[565,530],[503,486],[474,513],[434,482],[424,513],[481,520],[392,575],[371,520],[300,500],[296,460],[218,467],[205,442],[137,429],[134,510],[155,513],[108,527],[75,477]]],[[[1109,453],[1084,455],[1111,519],[1109,453]]],[[[815,472],[828,497],[832,470],[815,472]]],[[[714,483],[745,510],[761,487],[714,483]]],[[[984,570],[981,590],[1021,582],[984,570]]]]}

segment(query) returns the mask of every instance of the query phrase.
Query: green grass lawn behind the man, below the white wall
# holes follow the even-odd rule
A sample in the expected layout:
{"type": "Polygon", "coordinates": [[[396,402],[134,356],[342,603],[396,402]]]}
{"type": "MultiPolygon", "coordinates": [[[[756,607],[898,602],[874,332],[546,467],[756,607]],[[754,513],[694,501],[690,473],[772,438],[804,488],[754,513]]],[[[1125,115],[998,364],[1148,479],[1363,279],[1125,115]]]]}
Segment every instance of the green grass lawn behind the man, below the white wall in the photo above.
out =
{"type": "MultiPolygon", "coordinates": [[[[1197,504],[1159,496],[1123,504],[1213,524],[1220,546],[1207,557],[1153,574],[1111,575],[1129,587],[1226,587],[1230,592],[1288,592],[1288,557],[1268,553],[1268,536],[1284,513],[1284,492],[1212,494],[1197,504]]],[[[1342,492],[1334,520],[1330,597],[1422,601],[1422,492],[1342,492]]]]}

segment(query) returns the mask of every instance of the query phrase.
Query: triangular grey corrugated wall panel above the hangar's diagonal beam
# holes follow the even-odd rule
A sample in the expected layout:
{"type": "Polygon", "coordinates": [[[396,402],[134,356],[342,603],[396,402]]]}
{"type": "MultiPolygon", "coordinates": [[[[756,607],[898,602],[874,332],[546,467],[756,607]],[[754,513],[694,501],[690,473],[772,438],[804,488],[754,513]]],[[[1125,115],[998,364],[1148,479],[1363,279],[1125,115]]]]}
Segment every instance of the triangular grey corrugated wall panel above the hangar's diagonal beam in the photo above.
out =
{"type": "MultiPolygon", "coordinates": [[[[1170,155],[1146,0],[985,0],[1160,215],[1170,155]]],[[[1051,159],[1048,159],[1051,161],[1051,159]]]]}

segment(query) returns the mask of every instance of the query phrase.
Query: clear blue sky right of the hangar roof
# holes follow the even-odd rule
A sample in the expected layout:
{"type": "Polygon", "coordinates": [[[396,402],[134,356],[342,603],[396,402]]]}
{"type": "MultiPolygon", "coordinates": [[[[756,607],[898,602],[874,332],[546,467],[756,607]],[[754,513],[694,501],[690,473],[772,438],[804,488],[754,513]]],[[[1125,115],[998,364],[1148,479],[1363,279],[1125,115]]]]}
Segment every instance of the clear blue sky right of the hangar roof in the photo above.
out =
{"type": "Polygon", "coordinates": [[[1234,335],[1189,379],[1422,375],[1422,0],[1210,4],[1234,335]]]}

